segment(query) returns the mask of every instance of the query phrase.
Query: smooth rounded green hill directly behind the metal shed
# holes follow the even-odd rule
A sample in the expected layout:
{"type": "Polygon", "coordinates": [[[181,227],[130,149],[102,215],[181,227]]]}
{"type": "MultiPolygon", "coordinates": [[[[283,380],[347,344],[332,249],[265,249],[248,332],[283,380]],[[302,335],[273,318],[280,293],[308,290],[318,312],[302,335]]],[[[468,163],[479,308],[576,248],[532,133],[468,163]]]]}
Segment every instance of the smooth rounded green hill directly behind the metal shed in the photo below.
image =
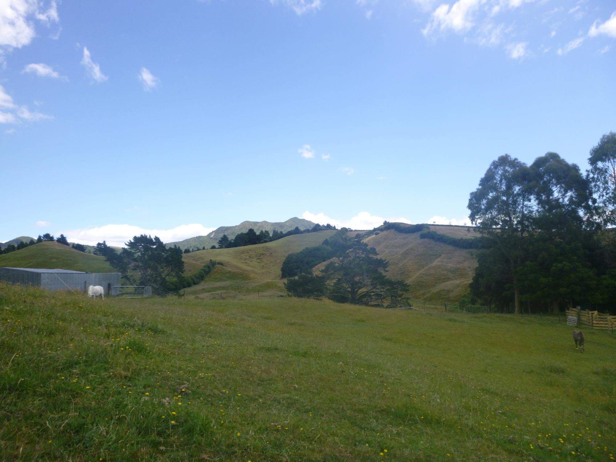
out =
{"type": "Polygon", "coordinates": [[[68,269],[89,273],[115,273],[105,261],[57,242],[40,242],[25,249],[0,255],[0,267],[68,269]]]}

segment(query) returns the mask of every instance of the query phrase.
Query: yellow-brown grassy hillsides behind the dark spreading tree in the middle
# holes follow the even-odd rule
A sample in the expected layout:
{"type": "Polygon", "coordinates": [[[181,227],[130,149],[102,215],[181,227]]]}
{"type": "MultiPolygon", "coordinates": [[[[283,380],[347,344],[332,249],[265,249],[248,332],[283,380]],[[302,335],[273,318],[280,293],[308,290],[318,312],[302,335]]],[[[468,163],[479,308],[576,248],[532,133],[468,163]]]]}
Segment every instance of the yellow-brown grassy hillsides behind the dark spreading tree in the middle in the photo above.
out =
{"type": "MultiPolygon", "coordinates": [[[[467,232],[466,227],[430,225],[430,229],[456,238],[479,235],[472,229],[467,232]]],[[[333,233],[307,233],[254,246],[184,254],[187,274],[197,271],[209,259],[225,264],[224,267],[217,266],[202,283],[188,288],[186,295],[211,298],[245,296],[257,292],[285,294],[280,267],[286,255],[319,245],[333,233]]],[[[357,234],[356,231],[351,233],[357,234]]],[[[468,290],[474,274],[476,261],[473,251],[420,239],[419,234],[387,230],[371,235],[365,241],[376,248],[379,257],[389,261],[389,277],[403,279],[410,284],[413,302],[457,302],[468,290]]],[[[324,265],[317,265],[315,270],[324,265]]]]}

